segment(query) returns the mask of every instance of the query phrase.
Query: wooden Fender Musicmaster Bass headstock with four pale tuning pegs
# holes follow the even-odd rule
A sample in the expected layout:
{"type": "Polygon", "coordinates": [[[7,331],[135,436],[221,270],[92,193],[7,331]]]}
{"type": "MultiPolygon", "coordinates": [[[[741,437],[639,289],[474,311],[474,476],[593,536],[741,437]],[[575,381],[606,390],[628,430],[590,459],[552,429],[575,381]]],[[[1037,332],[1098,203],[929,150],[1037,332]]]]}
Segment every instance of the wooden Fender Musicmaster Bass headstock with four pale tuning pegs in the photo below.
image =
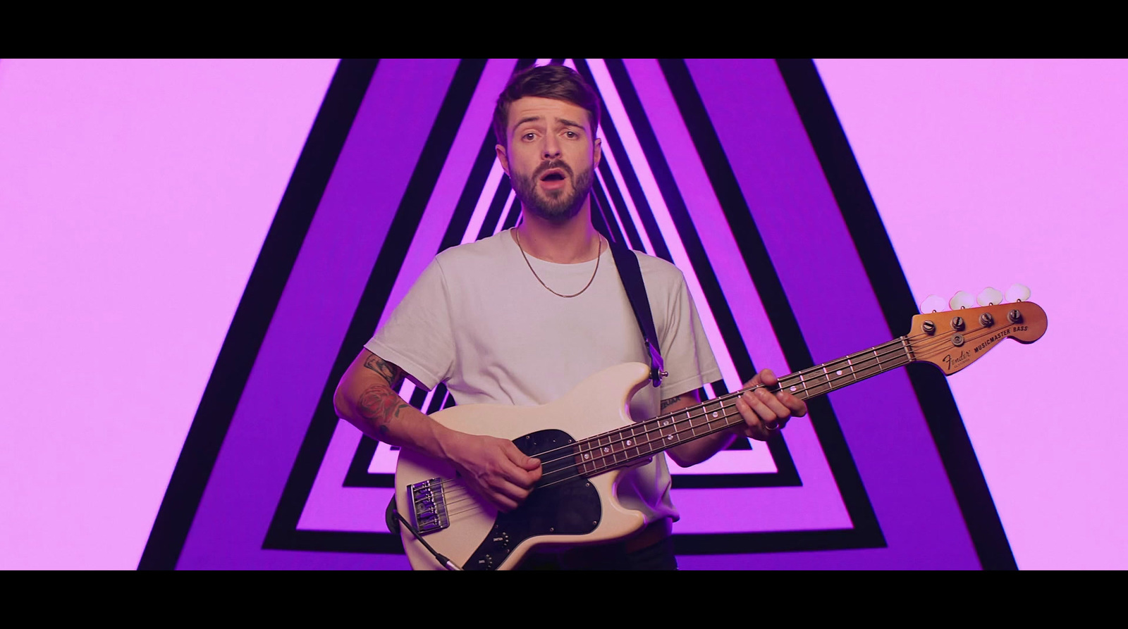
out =
{"type": "MultiPolygon", "coordinates": [[[[1029,299],[1029,289],[1015,286],[1007,291],[1007,296],[1029,299]]],[[[979,302],[987,301],[986,304],[968,307],[964,304],[973,298],[961,291],[950,300],[952,310],[943,312],[929,308],[938,299],[929,296],[922,309],[925,312],[913,317],[913,328],[905,337],[913,360],[932,363],[951,375],[1007,338],[1033,343],[1046,334],[1046,311],[1040,305],[1024,300],[989,301],[997,296],[1002,293],[987,289],[979,294],[979,302]]]]}

